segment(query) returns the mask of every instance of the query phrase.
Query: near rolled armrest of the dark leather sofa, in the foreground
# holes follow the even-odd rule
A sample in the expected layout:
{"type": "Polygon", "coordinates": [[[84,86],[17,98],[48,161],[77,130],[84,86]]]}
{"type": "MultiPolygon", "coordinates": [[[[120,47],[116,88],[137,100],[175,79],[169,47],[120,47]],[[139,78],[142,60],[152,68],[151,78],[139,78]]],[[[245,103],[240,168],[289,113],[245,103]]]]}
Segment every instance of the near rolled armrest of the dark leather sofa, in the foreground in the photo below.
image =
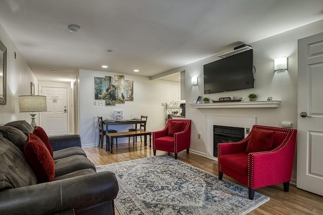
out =
{"type": "Polygon", "coordinates": [[[106,171],[0,192],[2,214],[53,214],[84,209],[113,200],[119,191],[114,173],[106,171]]]}

